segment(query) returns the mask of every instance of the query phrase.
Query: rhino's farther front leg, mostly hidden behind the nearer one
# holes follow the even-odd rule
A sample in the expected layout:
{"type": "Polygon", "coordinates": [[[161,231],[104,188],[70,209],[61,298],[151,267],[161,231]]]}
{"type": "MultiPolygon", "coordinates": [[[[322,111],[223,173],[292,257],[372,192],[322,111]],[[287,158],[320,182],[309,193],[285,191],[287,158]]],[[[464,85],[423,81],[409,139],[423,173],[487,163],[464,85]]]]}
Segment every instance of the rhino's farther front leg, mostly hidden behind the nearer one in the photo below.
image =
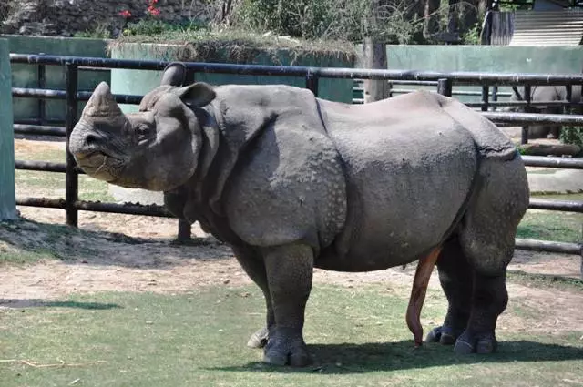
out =
{"type": "Polygon", "coordinates": [[[264,327],[251,334],[251,338],[247,341],[248,347],[263,348],[267,345],[270,331],[275,327],[275,317],[273,315],[273,308],[271,307],[271,294],[267,285],[265,264],[263,263],[261,253],[252,248],[233,247],[233,252],[243,270],[245,270],[251,280],[263,291],[267,309],[266,323],[264,327]]]}

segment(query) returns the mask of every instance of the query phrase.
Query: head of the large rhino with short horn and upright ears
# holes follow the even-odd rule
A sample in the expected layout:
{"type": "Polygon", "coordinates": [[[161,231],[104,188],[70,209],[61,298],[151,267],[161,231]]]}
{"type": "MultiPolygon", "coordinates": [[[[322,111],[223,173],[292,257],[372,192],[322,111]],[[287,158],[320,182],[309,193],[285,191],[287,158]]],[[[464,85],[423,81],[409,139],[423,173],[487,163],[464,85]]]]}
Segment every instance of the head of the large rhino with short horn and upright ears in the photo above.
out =
{"type": "MultiPolygon", "coordinates": [[[[176,84],[176,68],[163,82],[176,84]],[[174,80],[173,80],[174,79],[174,80]]],[[[196,111],[215,98],[212,87],[162,85],[124,114],[107,83],[99,84],[69,138],[69,151],[93,178],[127,188],[166,191],[194,174],[201,147],[196,111]]]]}

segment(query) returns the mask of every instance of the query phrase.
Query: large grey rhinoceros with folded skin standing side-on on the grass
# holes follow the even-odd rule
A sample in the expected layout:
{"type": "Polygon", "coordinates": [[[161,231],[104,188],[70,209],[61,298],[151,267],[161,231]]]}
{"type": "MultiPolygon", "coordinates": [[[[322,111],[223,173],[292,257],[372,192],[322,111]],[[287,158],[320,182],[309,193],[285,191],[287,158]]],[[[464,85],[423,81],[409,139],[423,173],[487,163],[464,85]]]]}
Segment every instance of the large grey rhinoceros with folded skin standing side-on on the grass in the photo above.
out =
{"type": "Polygon", "coordinates": [[[265,296],[266,327],[249,342],[265,362],[309,362],[314,267],[384,270],[442,244],[449,309],[426,340],[496,350],[527,175],[506,137],[454,99],[350,106],[296,87],[163,85],[124,116],[104,83],[69,144],[89,175],[162,190],[174,214],[230,244],[265,296]]]}

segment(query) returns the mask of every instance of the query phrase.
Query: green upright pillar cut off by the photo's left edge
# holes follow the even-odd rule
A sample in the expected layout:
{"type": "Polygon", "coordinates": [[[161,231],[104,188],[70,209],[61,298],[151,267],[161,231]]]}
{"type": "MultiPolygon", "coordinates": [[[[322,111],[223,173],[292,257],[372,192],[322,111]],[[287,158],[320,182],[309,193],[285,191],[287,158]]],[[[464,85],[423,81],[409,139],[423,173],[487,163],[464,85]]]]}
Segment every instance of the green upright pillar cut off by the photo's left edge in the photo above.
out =
{"type": "Polygon", "coordinates": [[[15,219],[15,147],[8,41],[0,39],[0,219],[15,219]]]}

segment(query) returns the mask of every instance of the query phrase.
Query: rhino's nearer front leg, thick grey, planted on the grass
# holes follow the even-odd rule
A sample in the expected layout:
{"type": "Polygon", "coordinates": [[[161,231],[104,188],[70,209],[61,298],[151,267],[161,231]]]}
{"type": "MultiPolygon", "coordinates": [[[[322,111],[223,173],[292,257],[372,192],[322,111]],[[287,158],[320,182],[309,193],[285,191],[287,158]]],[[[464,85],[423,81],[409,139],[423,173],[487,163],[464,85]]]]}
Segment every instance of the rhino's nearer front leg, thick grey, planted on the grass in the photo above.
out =
{"type": "Polygon", "coordinates": [[[264,349],[264,362],[302,367],[310,362],[303,341],[306,302],[312,290],[313,252],[303,244],[263,250],[275,329],[264,349]]]}

